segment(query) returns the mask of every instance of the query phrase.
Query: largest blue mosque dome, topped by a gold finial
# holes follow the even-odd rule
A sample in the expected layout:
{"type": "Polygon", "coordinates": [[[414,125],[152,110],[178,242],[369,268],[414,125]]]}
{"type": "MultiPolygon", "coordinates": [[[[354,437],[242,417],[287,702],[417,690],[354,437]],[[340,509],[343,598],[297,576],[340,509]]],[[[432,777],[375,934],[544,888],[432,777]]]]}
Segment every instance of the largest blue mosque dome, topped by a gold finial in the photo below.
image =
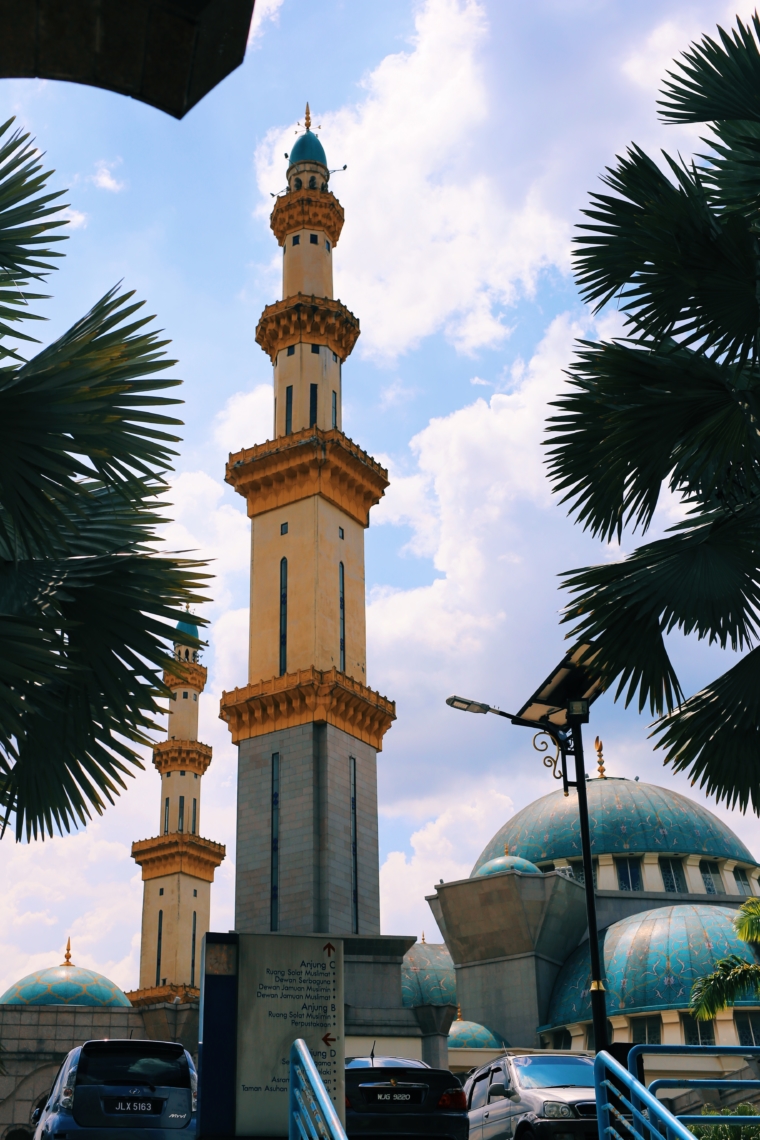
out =
{"type": "MultiPolygon", "coordinates": [[[[610,776],[586,787],[595,855],[661,852],[755,864],[721,820],[677,791],[610,776]]],[[[580,857],[578,793],[554,791],[517,812],[482,852],[473,874],[502,855],[505,844],[510,855],[531,863],[580,857]]]]}

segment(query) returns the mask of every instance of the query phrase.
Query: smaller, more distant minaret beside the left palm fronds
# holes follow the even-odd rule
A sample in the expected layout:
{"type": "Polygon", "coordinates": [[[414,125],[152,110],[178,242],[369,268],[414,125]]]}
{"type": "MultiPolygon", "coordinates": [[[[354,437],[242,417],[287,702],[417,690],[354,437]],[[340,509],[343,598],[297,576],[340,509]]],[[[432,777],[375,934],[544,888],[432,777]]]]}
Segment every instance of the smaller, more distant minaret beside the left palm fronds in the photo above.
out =
{"type": "MultiPolygon", "coordinates": [[[[189,614],[177,628],[198,636],[189,614]]],[[[145,883],[140,988],[128,994],[132,1004],[198,990],[211,883],[224,858],[222,844],[201,838],[201,782],[211,764],[211,748],[198,741],[198,700],[206,669],[198,662],[198,651],[179,642],[174,658],[181,667],[175,674],[164,674],[172,691],[167,740],[153,750],[161,775],[158,834],[132,844],[132,858],[142,868],[145,883]]]]}

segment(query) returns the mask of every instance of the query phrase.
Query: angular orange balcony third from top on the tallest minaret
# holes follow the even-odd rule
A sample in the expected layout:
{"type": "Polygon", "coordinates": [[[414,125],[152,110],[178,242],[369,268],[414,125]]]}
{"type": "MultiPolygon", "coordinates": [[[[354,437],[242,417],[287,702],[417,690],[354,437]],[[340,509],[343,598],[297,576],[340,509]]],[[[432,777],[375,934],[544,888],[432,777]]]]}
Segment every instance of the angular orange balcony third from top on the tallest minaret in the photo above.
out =
{"type": "Polygon", "coordinates": [[[303,431],[230,455],[224,479],[248,503],[254,518],[275,507],[321,495],[362,527],[385,494],[387,471],[337,427],[303,431]]]}

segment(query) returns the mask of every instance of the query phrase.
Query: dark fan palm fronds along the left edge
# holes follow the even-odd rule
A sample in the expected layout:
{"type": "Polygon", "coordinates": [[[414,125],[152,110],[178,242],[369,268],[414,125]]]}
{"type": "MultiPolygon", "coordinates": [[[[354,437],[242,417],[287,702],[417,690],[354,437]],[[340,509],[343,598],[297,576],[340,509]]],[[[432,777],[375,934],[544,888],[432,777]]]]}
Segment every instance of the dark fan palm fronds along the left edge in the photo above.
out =
{"type": "Polygon", "coordinates": [[[31,359],[31,292],[62,254],[60,193],[0,127],[0,833],[71,830],[125,787],[169,695],[172,624],[202,563],[158,556],[180,423],[175,364],[132,293],[108,292],[31,359]],[[57,215],[57,217],[56,217],[57,215]],[[26,326],[28,327],[28,326],[26,326]],[[15,340],[16,348],[8,344],[15,340]],[[167,634],[170,638],[167,640],[167,634]]]}

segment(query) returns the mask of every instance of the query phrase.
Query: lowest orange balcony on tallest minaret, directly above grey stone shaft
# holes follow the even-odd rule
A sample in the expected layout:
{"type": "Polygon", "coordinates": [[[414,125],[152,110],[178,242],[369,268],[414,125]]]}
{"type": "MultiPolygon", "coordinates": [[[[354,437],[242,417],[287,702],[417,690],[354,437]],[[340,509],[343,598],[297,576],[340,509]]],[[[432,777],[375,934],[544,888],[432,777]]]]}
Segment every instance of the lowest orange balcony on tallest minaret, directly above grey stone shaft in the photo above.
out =
{"type": "Polygon", "coordinates": [[[379,752],[395,703],[338,669],[299,669],[222,693],[220,717],[232,742],[300,724],[335,725],[379,752]]]}

